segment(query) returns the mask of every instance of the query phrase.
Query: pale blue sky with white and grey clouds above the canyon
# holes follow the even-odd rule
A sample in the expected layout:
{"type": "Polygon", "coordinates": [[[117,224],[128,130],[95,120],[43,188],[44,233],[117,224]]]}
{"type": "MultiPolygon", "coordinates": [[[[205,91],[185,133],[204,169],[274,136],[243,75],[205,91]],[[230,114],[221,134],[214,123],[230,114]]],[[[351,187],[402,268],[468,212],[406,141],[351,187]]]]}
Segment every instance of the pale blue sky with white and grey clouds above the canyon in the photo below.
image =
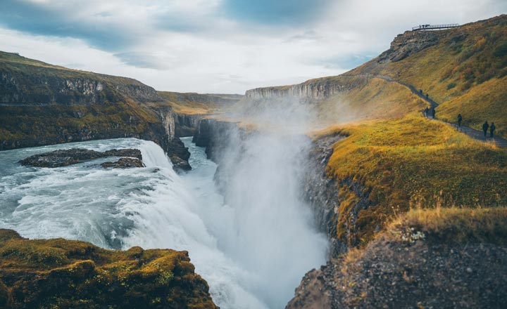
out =
{"type": "Polygon", "coordinates": [[[0,0],[0,50],[161,91],[244,93],[341,74],[420,24],[506,0],[0,0]]]}

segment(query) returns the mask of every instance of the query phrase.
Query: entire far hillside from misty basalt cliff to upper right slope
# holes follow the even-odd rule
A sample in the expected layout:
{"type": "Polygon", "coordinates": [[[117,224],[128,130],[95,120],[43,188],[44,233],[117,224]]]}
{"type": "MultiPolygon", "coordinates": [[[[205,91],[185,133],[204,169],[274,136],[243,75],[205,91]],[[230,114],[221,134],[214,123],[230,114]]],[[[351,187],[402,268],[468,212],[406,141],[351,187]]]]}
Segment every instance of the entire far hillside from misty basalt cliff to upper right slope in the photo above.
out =
{"type": "Polygon", "coordinates": [[[507,137],[507,15],[439,31],[408,31],[354,70],[301,84],[247,91],[236,110],[280,105],[295,96],[317,107],[321,124],[403,117],[428,106],[407,86],[439,103],[437,118],[507,137]],[[396,83],[399,81],[400,83],[396,83]],[[251,106],[253,105],[253,107],[251,106]]]}

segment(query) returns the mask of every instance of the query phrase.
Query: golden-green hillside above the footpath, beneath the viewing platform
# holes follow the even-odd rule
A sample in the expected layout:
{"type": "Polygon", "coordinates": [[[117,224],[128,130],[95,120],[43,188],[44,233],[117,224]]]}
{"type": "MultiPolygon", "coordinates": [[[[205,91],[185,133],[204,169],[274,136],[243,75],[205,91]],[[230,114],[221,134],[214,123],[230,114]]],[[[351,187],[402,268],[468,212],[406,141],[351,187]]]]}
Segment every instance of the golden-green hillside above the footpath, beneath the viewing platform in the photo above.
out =
{"type": "Polygon", "coordinates": [[[437,32],[406,32],[378,58],[347,74],[382,74],[428,93],[437,117],[507,137],[507,15],[437,32]],[[430,38],[428,38],[430,36],[430,38]],[[418,44],[427,43],[418,50],[418,44]],[[413,49],[406,58],[400,54],[413,49]],[[399,60],[401,58],[401,60],[399,60]]]}

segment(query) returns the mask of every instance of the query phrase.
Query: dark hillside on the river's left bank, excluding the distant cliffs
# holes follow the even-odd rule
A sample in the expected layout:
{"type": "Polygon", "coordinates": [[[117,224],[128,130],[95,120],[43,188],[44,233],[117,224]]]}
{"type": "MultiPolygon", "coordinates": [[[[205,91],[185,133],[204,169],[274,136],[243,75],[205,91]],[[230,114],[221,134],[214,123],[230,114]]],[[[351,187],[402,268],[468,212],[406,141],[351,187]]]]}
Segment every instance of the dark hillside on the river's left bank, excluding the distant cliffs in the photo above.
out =
{"type": "Polygon", "coordinates": [[[70,70],[0,52],[0,150],[96,138],[163,144],[160,100],[134,79],[70,70]]]}

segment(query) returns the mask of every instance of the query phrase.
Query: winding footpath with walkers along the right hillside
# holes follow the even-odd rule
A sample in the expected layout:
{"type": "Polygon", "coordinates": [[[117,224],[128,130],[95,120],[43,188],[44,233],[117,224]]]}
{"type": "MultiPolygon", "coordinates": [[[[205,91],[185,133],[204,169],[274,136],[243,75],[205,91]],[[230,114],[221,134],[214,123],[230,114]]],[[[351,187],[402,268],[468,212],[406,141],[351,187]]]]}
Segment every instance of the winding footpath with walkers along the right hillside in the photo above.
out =
{"type": "MultiPolygon", "coordinates": [[[[344,75],[344,76],[347,76],[347,75],[344,75]]],[[[429,98],[429,97],[423,95],[423,93],[420,93],[413,85],[407,84],[403,81],[398,81],[396,79],[392,79],[392,77],[389,77],[387,75],[356,74],[356,75],[350,75],[350,76],[362,76],[362,77],[368,77],[368,78],[377,77],[380,79],[384,79],[385,81],[388,81],[390,83],[400,84],[401,86],[405,86],[406,88],[408,88],[412,93],[414,93],[419,98],[425,100],[427,103],[430,103],[432,108],[437,108],[440,105],[439,103],[435,102],[432,98],[429,98]]],[[[489,133],[487,133],[487,136],[484,136],[484,133],[482,131],[472,129],[469,126],[458,126],[457,124],[449,123],[449,122],[443,121],[442,119],[438,119],[438,118],[432,118],[432,117],[426,117],[426,118],[432,119],[434,121],[442,121],[446,124],[449,124],[449,125],[455,127],[461,133],[464,133],[464,134],[470,136],[471,138],[474,138],[475,140],[480,140],[484,143],[494,143],[495,145],[497,145],[499,147],[507,147],[507,139],[505,139],[505,138],[501,138],[499,136],[489,137],[489,133]]]]}

